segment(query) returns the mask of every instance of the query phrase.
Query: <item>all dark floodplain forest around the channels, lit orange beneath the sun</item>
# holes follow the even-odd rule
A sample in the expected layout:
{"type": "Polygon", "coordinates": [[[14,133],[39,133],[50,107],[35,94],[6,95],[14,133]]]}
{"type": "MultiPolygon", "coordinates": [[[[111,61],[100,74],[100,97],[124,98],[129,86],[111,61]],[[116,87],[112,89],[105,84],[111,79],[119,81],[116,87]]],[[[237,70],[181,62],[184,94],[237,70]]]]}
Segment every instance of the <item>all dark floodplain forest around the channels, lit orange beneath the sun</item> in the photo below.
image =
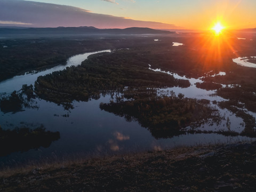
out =
{"type": "MultiPolygon", "coordinates": [[[[100,108],[119,116],[125,116],[127,121],[132,119],[138,121],[142,126],[147,127],[156,138],[184,134],[186,133],[182,130],[184,127],[196,127],[207,123],[209,119],[211,119],[210,123],[219,121],[221,117],[211,107],[209,101],[183,98],[182,94],[179,94],[178,97],[174,95],[173,97],[166,95],[158,97],[157,89],[174,86],[189,87],[190,83],[188,80],[175,79],[172,75],[152,71],[149,69],[150,66],[153,69],[161,68],[165,71],[172,71],[180,76],[201,77],[203,83],[197,83],[196,87],[216,90],[217,95],[227,99],[228,101],[219,102],[219,107],[226,108],[243,119],[245,129],[241,135],[254,137],[256,135],[255,118],[247,110],[256,111],[256,69],[241,67],[232,62],[234,54],[227,46],[221,46],[221,51],[225,52],[221,58],[208,57],[209,54],[216,54],[217,50],[210,49],[205,42],[199,41],[201,38],[196,35],[195,38],[187,36],[176,38],[161,36],[158,38],[161,38],[160,41],[154,41],[151,37],[109,37],[106,39],[80,39],[79,41],[69,39],[63,41],[65,43],[60,39],[37,39],[33,43],[42,43],[44,51],[49,51],[47,46],[51,46],[53,50],[56,46],[59,49],[57,51],[59,54],[62,54],[64,50],[67,51],[66,57],[71,53],[94,51],[99,48],[113,51],[90,55],[80,66],[71,66],[63,71],[39,76],[34,87],[23,85],[20,93],[13,92],[10,97],[2,98],[1,110],[6,113],[22,110],[26,106],[36,107],[28,102],[30,98],[35,97],[53,101],[58,105],[63,105],[65,109],[71,109],[74,100],[89,101],[98,99],[104,94],[118,93],[121,94],[121,97],[116,97],[110,103],[102,103],[100,108]],[[174,41],[182,42],[185,46],[174,47],[172,46],[174,41]],[[69,51],[70,47],[73,47],[73,51],[69,51]],[[197,57],[197,55],[201,55],[201,57],[197,57]],[[214,76],[220,71],[225,72],[226,75],[214,76]]],[[[26,42],[27,45],[33,44],[31,40],[22,39],[20,41],[25,41],[22,46],[25,46],[26,42]]],[[[253,44],[253,42],[247,45],[243,42],[238,44],[240,42],[237,42],[235,38],[230,42],[236,45],[236,49],[242,56],[253,44]]],[[[221,41],[219,43],[224,45],[221,41]]],[[[12,49],[15,47],[14,45],[9,46],[12,49]]],[[[28,47],[26,49],[33,46],[28,47]]],[[[37,47],[40,46],[37,45],[37,47]]],[[[6,49],[6,47],[2,49],[6,49]]],[[[21,47],[18,47],[16,51],[19,49],[21,47]]],[[[35,49],[34,53],[36,51],[38,50],[35,49]]],[[[249,53],[251,52],[249,51],[249,53]]],[[[52,53],[55,51],[51,51],[52,53]]],[[[7,54],[7,52],[3,54],[7,54]]],[[[51,54],[49,53],[49,55],[51,54]]],[[[26,62],[28,60],[25,59],[26,62]]],[[[32,62],[33,59],[30,61],[32,62]]],[[[54,59],[52,61],[54,62],[54,59]]],[[[35,69],[41,66],[41,62],[44,62],[43,57],[31,68],[35,69]]],[[[49,65],[50,63],[43,66],[49,65]]],[[[26,65],[23,67],[28,69],[26,65]]],[[[191,129],[187,132],[195,133],[195,130],[191,129]]],[[[230,131],[222,133],[235,134],[230,131]]]]}

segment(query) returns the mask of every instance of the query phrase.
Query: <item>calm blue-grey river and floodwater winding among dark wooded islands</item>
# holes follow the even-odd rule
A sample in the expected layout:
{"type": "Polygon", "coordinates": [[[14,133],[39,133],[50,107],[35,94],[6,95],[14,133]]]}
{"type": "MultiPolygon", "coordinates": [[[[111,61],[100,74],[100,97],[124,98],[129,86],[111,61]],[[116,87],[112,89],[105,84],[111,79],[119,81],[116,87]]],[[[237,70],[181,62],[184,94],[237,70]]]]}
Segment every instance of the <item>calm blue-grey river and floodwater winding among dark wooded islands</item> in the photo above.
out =
{"type": "MultiPolygon", "coordinates": [[[[179,45],[182,44],[179,43],[179,45]]],[[[177,46],[177,44],[175,46],[177,46]]],[[[66,66],[56,66],[39,73],[35,72],[7,79],[6,81],[0,82],[0,92],[4,94],[11,93],[14,90],[20,90],[22,84],[34,85],[39,75],[49,74],[56,70],[63,70],[71,65],[80,65],[82,61],[93,53],[75,55],[68,59],[66,66]]],[[[161,71],[161,69],[151,70],[161,71]]],[[[186,77],[173,74],[169,71],[162,71],[162,73],[170,73],[170,75],[173,75],[175,78],[187,79],[186,77]]],[[[220,97],[212,95],[214,91],[198,89],[194,83],[200,82],[201,80],[199,78],[191,78],[188,80],[191,83],[191,86],[188,88],[181,89],[179,87],[172,87],[159,89],[158,94],[167,94],[169,91],[174,91],[176,95],[182,93],[185,97],[190,98],[209,99],[211,101],[223,100],[220,97]]],[[[87,155],[93,156],[168,149],[180,145],[191,146],[250,140],[250,138],[247,137],[226,137],[218,134],[186,134],[169,139],[155,139],[147,129],[141,127],[137,122],[127,122],[124,117],[116,116],[99,108],[101,102],[109,102],[110,99],[110,95],[106,95],[105,97],[100,97],[98,100],[91,99],[88,102],[74,101],[74,109],[70,109],[70,111],[65,110],[62,106],[58,106],[53,102],[34,99],[34,103],[38,109],[26,108],[24,111],[14,114],[4,114],[1,111],[0,125],[3,129],[14,129],[15,126],[20,126],[21,124],[28,125],[31,128],[43,124],[46,130],[59,131],[60,139],[54,141],[49,148],[41,147],[38,150],[31,149],[23,153],[12,153],[5,157],[0,157],[0,162],[2,162],[0,166],[15,165],[28,161],[39,161],[42,158],[63,159],[73,156],[81,157],[87,155]],[[65,117],[65,115],[68,115],[68,117],[65,117]]],[[[215,107],[219,109],[217,105],[215,105],[215,107]]],[[[229,117],[231,130],[241,132],[244,129],[244,127],[240,125],[240,123],[243,122],[241,118],[236,117],[228,110],[221,110],[221,114],[229,117]]],[[[225,124],[226,121],[223,120],[219,126],[202,125],[198,129],[220,130],[225,129],[225,127],[223,127],[225,124]]]]}

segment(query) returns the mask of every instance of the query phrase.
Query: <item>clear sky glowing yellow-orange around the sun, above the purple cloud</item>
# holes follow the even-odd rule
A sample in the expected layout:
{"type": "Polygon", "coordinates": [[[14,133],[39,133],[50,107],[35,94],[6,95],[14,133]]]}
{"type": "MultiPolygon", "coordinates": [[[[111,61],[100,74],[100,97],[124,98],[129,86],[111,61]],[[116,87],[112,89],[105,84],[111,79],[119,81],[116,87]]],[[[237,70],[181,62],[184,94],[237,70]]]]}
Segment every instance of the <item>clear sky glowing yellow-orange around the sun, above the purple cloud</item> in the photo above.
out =
{"type": "MultiPolygon", "coordinates": [[[[227,29],[256,28],[256,0],[30,0],[28,3],[32,4],[31,1],[70,5],[91,13],[133,20],[162,22],[171,24],[166,28],[174,29],[205,30],[212,28],[217,21],[227,29]]],[[[5,19],[2,23],[7,21],[25,22],[5,19]]]]}

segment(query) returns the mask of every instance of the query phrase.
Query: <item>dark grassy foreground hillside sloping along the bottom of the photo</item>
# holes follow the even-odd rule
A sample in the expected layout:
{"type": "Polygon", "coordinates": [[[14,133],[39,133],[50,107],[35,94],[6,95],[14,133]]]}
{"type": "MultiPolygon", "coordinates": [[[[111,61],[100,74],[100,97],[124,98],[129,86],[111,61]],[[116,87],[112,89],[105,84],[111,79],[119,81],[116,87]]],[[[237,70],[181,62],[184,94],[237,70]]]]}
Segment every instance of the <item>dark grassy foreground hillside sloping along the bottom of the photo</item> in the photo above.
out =
{"type": "Polygon", "coordinates": [[[0,191],[256,191],[256,142],[2,172],[0,191]]]}

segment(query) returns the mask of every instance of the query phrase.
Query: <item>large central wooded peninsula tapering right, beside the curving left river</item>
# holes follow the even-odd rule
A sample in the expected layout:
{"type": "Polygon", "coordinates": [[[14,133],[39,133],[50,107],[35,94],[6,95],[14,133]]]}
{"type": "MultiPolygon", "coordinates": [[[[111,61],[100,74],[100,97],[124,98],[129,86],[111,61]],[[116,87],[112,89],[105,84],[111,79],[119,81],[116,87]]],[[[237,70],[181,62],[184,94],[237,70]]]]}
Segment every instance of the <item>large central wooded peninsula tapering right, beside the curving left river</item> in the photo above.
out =
{"type": "Polygon", "coordinates": [[[81,66],[38,77],[35,92],[56,103],[98,98],[101,92],[129,87],[188,87],[189,81],[148,69],[141,52],[118,50],[89,57],[81,66]]]}

